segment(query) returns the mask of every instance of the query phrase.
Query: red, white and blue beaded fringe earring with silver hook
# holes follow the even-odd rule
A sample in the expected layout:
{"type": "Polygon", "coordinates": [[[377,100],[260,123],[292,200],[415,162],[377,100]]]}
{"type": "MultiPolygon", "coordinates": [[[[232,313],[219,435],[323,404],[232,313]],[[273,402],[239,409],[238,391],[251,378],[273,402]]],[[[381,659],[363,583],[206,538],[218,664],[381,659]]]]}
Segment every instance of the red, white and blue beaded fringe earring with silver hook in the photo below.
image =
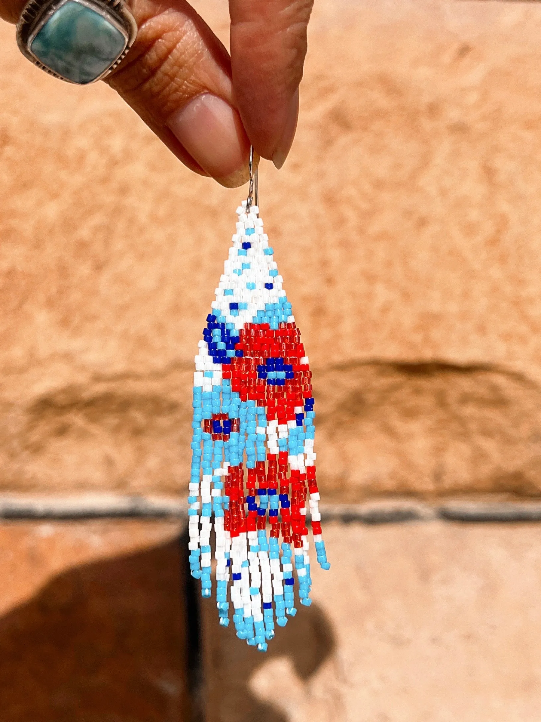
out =
{"type": "Polygon", "coordinates": [[[317,561],[322,569],[330,564],[315,474],[312,372],[259,217],[253,149],[250,191],[237,214],[195,356],[190,572],[201,579],[203,597],[211,596],[214,519],[219,622],[229,625],[229,591],[237,637],[264,652],[275,614],[281,627],[286,614],[296,614],[293,567],[301,604],[312,603],[307,491],[317,561]]]}

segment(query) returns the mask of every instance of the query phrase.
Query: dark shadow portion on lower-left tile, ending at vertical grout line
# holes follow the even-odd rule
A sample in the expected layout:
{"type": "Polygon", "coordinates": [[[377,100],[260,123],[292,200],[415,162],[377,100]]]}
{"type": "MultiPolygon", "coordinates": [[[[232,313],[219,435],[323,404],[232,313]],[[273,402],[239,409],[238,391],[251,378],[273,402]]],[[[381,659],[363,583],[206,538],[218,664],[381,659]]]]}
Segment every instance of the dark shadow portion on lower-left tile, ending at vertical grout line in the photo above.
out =
{"type": "Polygon", "coordinates": [[[190,719],[177,540],[69,570],[0,619],[4,722],[190,719]]]}

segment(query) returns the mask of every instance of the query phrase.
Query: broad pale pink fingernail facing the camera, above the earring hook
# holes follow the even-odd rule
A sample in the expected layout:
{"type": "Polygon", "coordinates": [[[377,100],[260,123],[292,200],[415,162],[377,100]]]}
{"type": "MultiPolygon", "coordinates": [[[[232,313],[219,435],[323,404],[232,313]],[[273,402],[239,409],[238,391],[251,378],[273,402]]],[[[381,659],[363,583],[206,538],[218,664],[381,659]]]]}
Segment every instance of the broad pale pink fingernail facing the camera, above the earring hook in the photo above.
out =
{"type": "Polygon", "coordinates": [[[223,186],[248,180],[250,141],[239,113],[217,95],[198,95],[170,117],[167,126],[193,160],[223,186]]]}

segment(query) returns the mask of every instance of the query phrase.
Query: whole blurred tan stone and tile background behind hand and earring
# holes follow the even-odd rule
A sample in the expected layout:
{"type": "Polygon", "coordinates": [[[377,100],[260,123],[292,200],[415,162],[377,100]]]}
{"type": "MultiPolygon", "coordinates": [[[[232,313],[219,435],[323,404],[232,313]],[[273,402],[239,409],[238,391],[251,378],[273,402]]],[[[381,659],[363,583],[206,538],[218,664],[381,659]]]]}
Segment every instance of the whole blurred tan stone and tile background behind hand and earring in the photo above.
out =
{"type": "MultiPolygon", "coordinates": [[[[228,44],[226,0],[198,12],[228,44]]],[[[538,722],[541,4],[316,0],[260,208],[332,568],[269,653],[186,574],[193,355],[246,188],[0,27],[0,718],[538,722]]]]}

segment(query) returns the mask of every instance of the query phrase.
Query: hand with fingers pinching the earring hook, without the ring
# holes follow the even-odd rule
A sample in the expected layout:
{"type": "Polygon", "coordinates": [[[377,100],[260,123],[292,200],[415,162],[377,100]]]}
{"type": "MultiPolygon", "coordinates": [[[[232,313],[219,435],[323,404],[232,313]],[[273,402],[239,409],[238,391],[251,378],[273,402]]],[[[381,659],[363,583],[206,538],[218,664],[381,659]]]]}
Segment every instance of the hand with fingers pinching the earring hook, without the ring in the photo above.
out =
{"type": "MultiPolygon", "coordinates": [[[[138,36],[106,82],[188,168],[235,188],[250,143],[277,168],[289,153],[312,3],[229,0],[229,58],[185,0],[131,0],[138,36]]],[[[0,0],[0,17],[25,4],[0,0]]]]}

